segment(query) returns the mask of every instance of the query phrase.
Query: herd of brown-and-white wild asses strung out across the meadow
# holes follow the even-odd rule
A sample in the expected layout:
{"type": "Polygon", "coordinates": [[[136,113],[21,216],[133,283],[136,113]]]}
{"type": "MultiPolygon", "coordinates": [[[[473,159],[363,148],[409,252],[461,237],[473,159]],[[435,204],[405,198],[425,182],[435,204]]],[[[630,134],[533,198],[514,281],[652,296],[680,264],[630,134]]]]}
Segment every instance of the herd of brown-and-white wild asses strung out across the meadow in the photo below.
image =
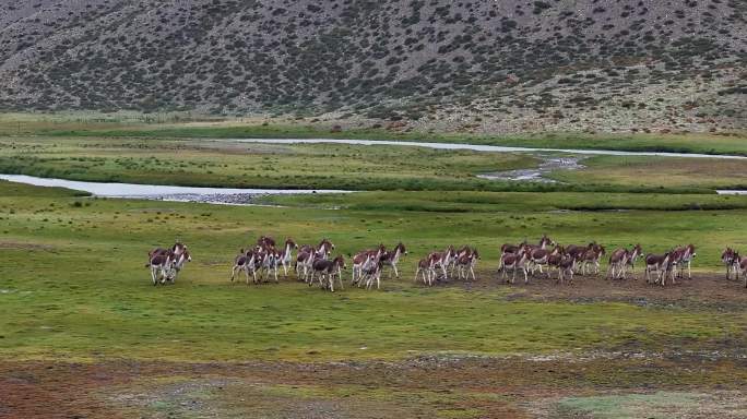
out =
{"type": "MultiPolygon", "coordinates": [[[[343,270],[347,268],[342,254],[332,258],[334,244],[329,239],[322,239],[319,244],[298,246],[288,238],[282,246],[277,246],[275,239],[262,236],[257,243],[249,249],[241,249],[234,259],[230,280],[244,272],[247,285],[253,282],[266,283],[271,278],[278,282],[278,271],[287,278],[288,273],[295,272],[296,278],[309,286],[318,284],[323,289],[334,291],[335,284],[343,289],[343,270]],[[294,258],[294,251],[296,255],[294,258]]],[[[352,256],[351,284],[370,289],[381,287],[381,275],[384,270],[400,277],[398,264],[400,259],[407,254],[405,246],[400,242],[392,249],[379,244],[374,249],[361,250],[352,256]]],[[[606,254],[603,246],[592,241],[585,246],[558,244],[553,239],[543,235],[537,244],[526,240],[519,244],[506,243],[500,248],[500,262],[498,275],[506,283],[515,282],[517,272],[524,276],[524,283],[529,283],[530,276],[546,275],[552,278],[552,273],[557,273],[556,283],[572,284],[574,274],[600,274],[602,258],[606,254]],[[509,279],[508,273],[511,272],[509,279]]],[[[649,284],[666,285],[667,279],[676,284],[677,278],[691,277],[691,263],[696,258],[696,248],[692,244],[676,247],[664,254],[643,254],[640,244],[630,249],[619,248],[609,253],[607,265],[607,279],[626,279],[628,273],[636,276],[636,262],[642,258],[644,276],[649,284]]],[[[475,266],[481,259],[476,248],[464,246],[455,249],[449,246],[443,251],[430,252],[420,259],[415,271],[415,280],[422,280],[427,286],[438,282],[448,282],[450,277],[456,279],[475,280],[475,266]]],[[[738,251],[726,248],[722,253],[722,262],[726,266],[726,278],[734,275],[737,279],[745,277],[747,287],[747,256],[740,256],[738,251]]],[[[171,248],[156,248],[149,252],[151,279],[153,285],[174,283],[179,272],[187,262],[192,260],[187,246],[177,241],[171,248]]]]}

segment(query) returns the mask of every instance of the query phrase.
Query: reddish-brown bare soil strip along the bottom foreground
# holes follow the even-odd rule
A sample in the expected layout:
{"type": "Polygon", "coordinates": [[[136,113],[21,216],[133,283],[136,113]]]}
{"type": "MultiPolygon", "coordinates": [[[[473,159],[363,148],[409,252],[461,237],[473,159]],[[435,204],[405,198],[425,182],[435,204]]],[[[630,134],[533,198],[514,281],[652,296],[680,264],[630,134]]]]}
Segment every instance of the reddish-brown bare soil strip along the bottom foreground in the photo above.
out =
{"type": "Polygon", "coordinates": [[[0,417],[583,417],[595,403],[614,402],[598,397],[618,395],[624,405],[631,399],[661,404],[661,392],[668,392],[702,404],[695,411],[688,404],[679,410],[676,404],[660,406],[669,417],[736,418],[744,411],[739,399],[745,382],[744,358],[683,356],[584,361],[422,357],[329,363],[2,362],[0,417]]]}

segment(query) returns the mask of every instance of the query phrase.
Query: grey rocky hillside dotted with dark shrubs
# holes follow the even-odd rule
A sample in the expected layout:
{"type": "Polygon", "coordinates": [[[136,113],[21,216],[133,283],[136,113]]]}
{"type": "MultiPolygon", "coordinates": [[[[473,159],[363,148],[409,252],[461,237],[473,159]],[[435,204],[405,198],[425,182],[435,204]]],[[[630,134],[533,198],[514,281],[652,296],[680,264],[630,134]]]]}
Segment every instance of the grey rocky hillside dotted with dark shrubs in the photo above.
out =
{"type": "Polygon", "coordinates": [[[0,81],[4,110],[739,129],[747,1],[7,0],[0,81]]]}

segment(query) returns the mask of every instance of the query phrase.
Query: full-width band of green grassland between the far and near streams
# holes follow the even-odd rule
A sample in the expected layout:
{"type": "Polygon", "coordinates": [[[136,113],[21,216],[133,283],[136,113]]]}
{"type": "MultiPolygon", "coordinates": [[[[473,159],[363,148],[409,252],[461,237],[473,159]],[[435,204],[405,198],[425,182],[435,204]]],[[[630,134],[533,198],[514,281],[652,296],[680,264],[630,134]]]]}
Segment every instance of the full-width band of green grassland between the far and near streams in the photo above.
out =
{"type": "MultiPolygon", "coordinates": [[[[210,140],[0,137],[0,172],[133,183],[410,191],[712,193],[747,188],[742,160],[595,156],[558,183],[481,179],[536,167],[526,153],[345,144],[249,144],[210,140]]],[[[591,196],[591,195],[590,195],[591,196]]],[[[591,197],[595,200],[595,197],[591,197]]]]}

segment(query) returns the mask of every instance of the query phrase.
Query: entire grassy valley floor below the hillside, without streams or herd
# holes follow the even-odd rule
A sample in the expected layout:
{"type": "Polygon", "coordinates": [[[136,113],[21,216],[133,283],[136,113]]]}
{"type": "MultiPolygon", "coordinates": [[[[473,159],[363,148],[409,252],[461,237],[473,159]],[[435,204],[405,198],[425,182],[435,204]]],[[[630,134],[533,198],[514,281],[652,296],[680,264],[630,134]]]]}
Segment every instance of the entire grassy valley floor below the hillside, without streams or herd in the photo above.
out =
{"type": "MultiPolygon", "coordinates": [[[[596,156],[581,161],[584,169],[549,173],[558,183],[514,183],[476,176],[533,168],[542,156],[206,139],[514,141],[294,130],[0,118],[4,173],[359,191],[228,206],[0,181],[0,392],[26,400],[39,386],[24,380],[51,383],[40,397],[50,411],[107,418],[298,417],[309,406],[366,418],[665,415],[696,404],[716,416],[744,410],[747,290],[723,279],[720,254],[725,246],[747,248],[747,196],[713,191],[745,188],[744,163],[596,156]],[[346,259],[402,241],[408,255],[402,277],[384,274],[381,290],[351,287],[349,266],[334,294],[293,275],[277,285],[230,283],[238,249],[266,234],[312,244],[327,237],[346,259]],[[596,240],[607,251],[695,243],[695,276],[651,286],[639,264],[637,280],[500,280],[500,244],[543,234],[559,243],[596,240]],[[175,285],[154,287],[146,253],[177,239],[193,261],[175,285]],[[479,250],[477,280],[415,283],[417,261],[449,244],[479,250]],[[87,388],[86,396],[66,396],[58,381],[87,388]]],[[[618,140],[515,142],[744,154],[737,137],[618,140]]],[[[0,399],[0,415],[3,408],[0,399]]]]}

